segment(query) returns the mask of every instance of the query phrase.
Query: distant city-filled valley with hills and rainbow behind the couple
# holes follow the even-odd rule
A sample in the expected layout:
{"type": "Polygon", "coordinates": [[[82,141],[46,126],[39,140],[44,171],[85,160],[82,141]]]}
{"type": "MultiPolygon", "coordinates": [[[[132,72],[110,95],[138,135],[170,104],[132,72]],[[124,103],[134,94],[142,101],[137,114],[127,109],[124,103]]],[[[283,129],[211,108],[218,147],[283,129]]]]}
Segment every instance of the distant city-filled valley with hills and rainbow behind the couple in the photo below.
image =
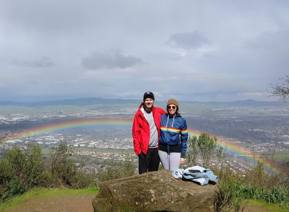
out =
{"type": "MultiPolygon", "coordinates": [[[[75,154],[98,159],[98,163],[110,159],[137,161],[132,123],[140,103],[141,100],[101,98],[0,102],[0,151],[29,143],[49,149],[65,140],[75,148],[75,154]]],[[[278,171],[288,159],[287,103],[179,103],[190,136],[207,133],[217,137],[219,145],[226,149],[227,162],[235,169],[245,172],[253,160],[260,160],[278,171]]],[[[155,106],[165,108],[165,102],[156,101],[155,106]]]]}

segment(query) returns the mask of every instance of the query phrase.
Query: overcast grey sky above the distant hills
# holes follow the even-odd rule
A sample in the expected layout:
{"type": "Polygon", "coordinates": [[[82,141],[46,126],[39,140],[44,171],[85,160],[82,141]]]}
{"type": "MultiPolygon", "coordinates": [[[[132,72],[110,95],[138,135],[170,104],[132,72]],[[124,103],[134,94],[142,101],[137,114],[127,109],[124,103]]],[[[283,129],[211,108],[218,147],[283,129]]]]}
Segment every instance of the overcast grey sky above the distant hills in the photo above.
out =
{"type": "Polygon", "coordinates": [[[275,101],[288,68],[288,0],[0,0],[0,101],[275,101]]]}

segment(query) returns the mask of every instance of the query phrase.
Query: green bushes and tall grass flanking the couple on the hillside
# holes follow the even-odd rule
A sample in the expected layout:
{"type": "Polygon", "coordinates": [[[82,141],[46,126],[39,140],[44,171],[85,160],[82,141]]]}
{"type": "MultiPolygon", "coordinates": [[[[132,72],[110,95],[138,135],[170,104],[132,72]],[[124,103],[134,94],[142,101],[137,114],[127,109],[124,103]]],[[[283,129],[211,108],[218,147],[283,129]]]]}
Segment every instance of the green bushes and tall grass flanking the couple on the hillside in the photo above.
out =
{"type": "MultiPolygon", "coordinates": [[[[219,176],[216,211],[242,211],[248,200],[261,201],[264,204],[274,204],[280,210],[289,210],[289,170],[273,175],[264,171],[264,165],[258,165],[245,175],[235,174],[225,162],[223,150],[216,143],[216,138],[202,134],[199,139],[194,137],[189,141],[188,160],[200,158],[203,164],[211,160],[222,163],[221,169],[210,167],[219,176]],[[200,139],[201,138],[201,139],[200,139]],[[204,153],[205,151],[205,153],[204,153]]],[[[288,167],[288,164],[287,166],[288,167]]],[[[43,160],[41,149],[31,145],[25,150],[19,146],[5,150],[0,160],[0,203],[1,206],[9,199],[24,194],[34,188],[70,188],[83,189],[94,187],[105,180],[132,176],[135,166],[126,161],[119,166],[108,166],[98,173],[88,172],[78,168],[73,162],[73,151],[62,141],[57,149],[52,149],[49,159],[43,160]]]]}

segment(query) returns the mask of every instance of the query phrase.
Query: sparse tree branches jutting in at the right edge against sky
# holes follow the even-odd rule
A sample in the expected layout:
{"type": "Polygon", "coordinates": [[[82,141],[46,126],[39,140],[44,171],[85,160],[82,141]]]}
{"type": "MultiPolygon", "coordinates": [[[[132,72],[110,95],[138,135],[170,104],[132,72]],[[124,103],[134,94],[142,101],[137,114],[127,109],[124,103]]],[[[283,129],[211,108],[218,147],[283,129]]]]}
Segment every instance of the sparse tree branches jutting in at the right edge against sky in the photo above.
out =
{"type": "Polygon", "coordinates": [[[289,100],[289,75],[279,79],[283,81],[276,84],[270,84],[272,91],[269,92],[269,97],[280,97],[280,101],[287,102],[289,100]]]}

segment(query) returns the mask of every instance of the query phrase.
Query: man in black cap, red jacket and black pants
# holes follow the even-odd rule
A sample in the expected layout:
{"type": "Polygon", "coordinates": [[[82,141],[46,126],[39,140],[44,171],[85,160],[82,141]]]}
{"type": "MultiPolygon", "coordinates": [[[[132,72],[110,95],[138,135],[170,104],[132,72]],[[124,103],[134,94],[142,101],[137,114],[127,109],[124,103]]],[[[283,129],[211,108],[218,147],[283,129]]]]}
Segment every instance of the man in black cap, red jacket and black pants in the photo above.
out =
{"type": "Polygon", "coordinates": [[[154,107],[154,95],[144,93],[144,102],[139,106],[133,123],[135,153],[139,157],[139,174],[157,171],[159,166],[158,139],[160,134],[160,116],[165,111],[154,107]]]}

